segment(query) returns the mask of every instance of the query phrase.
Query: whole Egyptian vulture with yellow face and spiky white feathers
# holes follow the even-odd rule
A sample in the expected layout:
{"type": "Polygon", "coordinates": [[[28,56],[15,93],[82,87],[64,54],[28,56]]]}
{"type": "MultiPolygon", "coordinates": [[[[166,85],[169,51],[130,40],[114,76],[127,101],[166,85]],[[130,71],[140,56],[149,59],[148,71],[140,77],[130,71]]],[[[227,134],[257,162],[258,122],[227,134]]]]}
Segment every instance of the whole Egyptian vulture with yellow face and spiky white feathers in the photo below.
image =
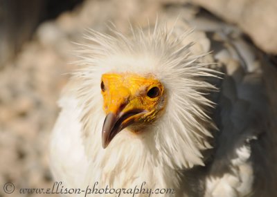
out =
{"type": "Polygon", "coordinates": [[[51,137],[55,180],[87,196],[277,196],[262,53],[215,19],[159,21],[87,33],[51,137]]]}

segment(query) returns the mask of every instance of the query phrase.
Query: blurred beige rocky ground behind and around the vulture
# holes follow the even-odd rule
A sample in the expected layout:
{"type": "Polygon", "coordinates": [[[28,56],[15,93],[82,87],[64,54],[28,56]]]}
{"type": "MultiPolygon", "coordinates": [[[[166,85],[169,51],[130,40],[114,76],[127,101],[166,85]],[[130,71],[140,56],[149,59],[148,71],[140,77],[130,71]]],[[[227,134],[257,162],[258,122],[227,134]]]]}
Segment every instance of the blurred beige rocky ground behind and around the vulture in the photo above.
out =
{"type": "Polygon", "coordinates": [[[50,195],[18,189],[53,185],[48,140],[66,73],[77,66],[70,64],[73,42],[87,28],[107,32],[109,21],[128,32],[129,23],[152,23],[166,10],[184,17],[188,5],[237,25],[277,64],[275,0],[0,0],[0,196],[50,195]],[[15,185],[14,194],[3,193],[6,182],[15,185]]]}

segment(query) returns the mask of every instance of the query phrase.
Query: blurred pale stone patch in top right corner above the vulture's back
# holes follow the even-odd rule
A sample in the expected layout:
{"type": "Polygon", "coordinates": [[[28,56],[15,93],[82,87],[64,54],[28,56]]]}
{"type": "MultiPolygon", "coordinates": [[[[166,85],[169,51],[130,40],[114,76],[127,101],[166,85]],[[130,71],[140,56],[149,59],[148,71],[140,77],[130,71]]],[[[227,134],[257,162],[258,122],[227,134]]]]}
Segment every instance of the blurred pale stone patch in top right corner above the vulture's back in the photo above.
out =
{"type": "Polygon", "coordinates": [[[276,0],[191,0],[191,2],[238,25],[262,50],[277,54],[276,0]]]}

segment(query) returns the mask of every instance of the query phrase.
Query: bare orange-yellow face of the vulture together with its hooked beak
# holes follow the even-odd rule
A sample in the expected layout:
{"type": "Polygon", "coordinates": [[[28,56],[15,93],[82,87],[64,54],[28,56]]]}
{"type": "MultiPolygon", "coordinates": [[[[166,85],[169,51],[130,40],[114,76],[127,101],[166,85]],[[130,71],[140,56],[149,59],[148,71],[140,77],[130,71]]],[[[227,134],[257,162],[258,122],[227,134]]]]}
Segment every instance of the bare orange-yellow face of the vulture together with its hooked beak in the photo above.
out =
{"type": "Polygon", "coordinates": [[[102,128],[102,147],[125,127],[138,133],[153,122],[165,105],[163,85],[154,75],[106,73],[101,79],[101,93],[106,113],[102,128]]]}

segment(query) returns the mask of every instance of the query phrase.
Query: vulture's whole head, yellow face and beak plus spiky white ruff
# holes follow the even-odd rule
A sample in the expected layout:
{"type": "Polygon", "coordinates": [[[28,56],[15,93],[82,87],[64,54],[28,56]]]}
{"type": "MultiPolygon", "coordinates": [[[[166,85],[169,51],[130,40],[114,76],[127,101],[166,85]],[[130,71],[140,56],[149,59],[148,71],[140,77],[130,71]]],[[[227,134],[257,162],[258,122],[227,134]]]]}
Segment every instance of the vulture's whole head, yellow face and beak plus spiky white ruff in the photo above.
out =
{"type": "Polygon", "coordinates": [[[191,31],[178,32],[162,25],[132,29],[129,37],[89,30],[81,44],[75,91],[97,180],[164,185],[172,171],[204,165],[215,129],[206,95],[216,89],[205,77],[215,71],[204,50],[195,53],[191,31]]]}

